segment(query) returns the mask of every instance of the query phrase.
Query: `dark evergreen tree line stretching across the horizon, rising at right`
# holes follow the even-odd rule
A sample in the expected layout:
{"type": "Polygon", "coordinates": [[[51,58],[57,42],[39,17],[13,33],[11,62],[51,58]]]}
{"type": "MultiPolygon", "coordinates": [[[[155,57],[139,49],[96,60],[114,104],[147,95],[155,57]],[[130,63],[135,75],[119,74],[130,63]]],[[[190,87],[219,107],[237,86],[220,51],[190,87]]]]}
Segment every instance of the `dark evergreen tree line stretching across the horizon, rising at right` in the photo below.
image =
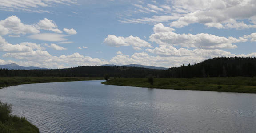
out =
{"type": "Polygon", "coordinates": [[[253,77],[256,76],[256,58],[217,57],[168,70],[125,66],[78,66],[49,70],[0,69],[1,77],[104,77],[106,74],[116,78],[253,77]]]}

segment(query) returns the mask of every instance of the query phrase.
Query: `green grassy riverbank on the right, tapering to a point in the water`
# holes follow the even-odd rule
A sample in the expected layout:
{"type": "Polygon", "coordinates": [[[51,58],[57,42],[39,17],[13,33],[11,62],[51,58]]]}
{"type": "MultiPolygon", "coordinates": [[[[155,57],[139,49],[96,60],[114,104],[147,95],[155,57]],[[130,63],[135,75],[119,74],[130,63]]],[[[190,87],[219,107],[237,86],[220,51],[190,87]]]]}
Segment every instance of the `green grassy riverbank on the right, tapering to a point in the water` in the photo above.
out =
{"type": "Polygon", "coordinates": [[[256,77],[154,78],[153,85],[148,82],[148,78],[112,78],[102,83],[160,89],[256,93],[256,77]]]}

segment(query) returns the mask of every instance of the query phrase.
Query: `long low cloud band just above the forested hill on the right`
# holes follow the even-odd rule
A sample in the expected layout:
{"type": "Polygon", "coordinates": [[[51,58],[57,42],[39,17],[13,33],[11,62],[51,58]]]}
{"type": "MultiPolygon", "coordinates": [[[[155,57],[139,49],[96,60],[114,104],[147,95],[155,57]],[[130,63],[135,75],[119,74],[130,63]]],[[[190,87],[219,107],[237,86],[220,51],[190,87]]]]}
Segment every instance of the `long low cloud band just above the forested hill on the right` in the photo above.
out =
{"type": "Polygon", "coordinates": [[[149,65],[149,66],[162,66],[162,67],[176,66],[177,67],[182,64],[199,63],[205,59],[209,59],[217,56],[256,57],[256,53],[251,53],[247,55],[235,55],[235,54],[231,54],[230,52],[226,52],[222,50],[195,49],[192,51],[192,54],[190,56],[159,56],[159,55],[152,56],[152,55],[148,55],[145,52],[134,53],[133,55],[130,56],[130,55],[124,55],[121,52],[117,52],[117,55],[110,60],[110,63],[117,64],[117,65],[142,64],[142,65],[149,65]]]}

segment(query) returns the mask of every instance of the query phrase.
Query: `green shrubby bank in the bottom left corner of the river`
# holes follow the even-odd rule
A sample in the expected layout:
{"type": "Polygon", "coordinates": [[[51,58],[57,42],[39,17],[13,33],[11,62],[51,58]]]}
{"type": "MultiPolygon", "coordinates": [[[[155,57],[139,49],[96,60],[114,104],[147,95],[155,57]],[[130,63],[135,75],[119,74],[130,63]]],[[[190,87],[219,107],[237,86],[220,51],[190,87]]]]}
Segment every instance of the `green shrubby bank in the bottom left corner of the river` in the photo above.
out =
{"type": "Polygon", "coordinates": [[[39,133],[25,117],[11,115],[12,106],[0,101],[0,133],[39,133]]]}

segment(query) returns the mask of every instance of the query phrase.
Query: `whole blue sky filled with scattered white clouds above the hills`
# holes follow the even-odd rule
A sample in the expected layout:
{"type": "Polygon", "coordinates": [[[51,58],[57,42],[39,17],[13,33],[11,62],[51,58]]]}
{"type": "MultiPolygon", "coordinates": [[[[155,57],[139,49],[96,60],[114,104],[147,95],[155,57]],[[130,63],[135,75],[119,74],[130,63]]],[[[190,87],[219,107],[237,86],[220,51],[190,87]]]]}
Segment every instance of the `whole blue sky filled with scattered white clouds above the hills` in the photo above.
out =
{"type": "Polygon", "coordinates": [[[0,0],[0,64],[173,67],[256,57],[256,0],[0,0]]]}

